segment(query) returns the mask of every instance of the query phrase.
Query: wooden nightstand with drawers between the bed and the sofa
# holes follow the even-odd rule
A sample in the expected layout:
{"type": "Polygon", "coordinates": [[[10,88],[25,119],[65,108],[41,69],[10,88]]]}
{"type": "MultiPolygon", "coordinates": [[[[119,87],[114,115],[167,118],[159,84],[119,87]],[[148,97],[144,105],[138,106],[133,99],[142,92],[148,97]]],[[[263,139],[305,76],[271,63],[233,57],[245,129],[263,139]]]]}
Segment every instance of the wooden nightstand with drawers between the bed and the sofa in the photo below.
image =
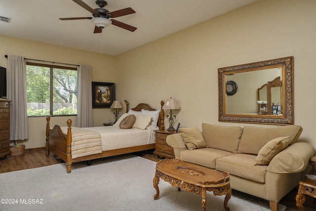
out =
{"type": "Polygon", "coordinates": [[[176,131],[155,130],[155,151],[154,158],[174,158],[174,152],[171,146],[166,142],[166,138],[170,134],[177,133],[176,131]]]}

